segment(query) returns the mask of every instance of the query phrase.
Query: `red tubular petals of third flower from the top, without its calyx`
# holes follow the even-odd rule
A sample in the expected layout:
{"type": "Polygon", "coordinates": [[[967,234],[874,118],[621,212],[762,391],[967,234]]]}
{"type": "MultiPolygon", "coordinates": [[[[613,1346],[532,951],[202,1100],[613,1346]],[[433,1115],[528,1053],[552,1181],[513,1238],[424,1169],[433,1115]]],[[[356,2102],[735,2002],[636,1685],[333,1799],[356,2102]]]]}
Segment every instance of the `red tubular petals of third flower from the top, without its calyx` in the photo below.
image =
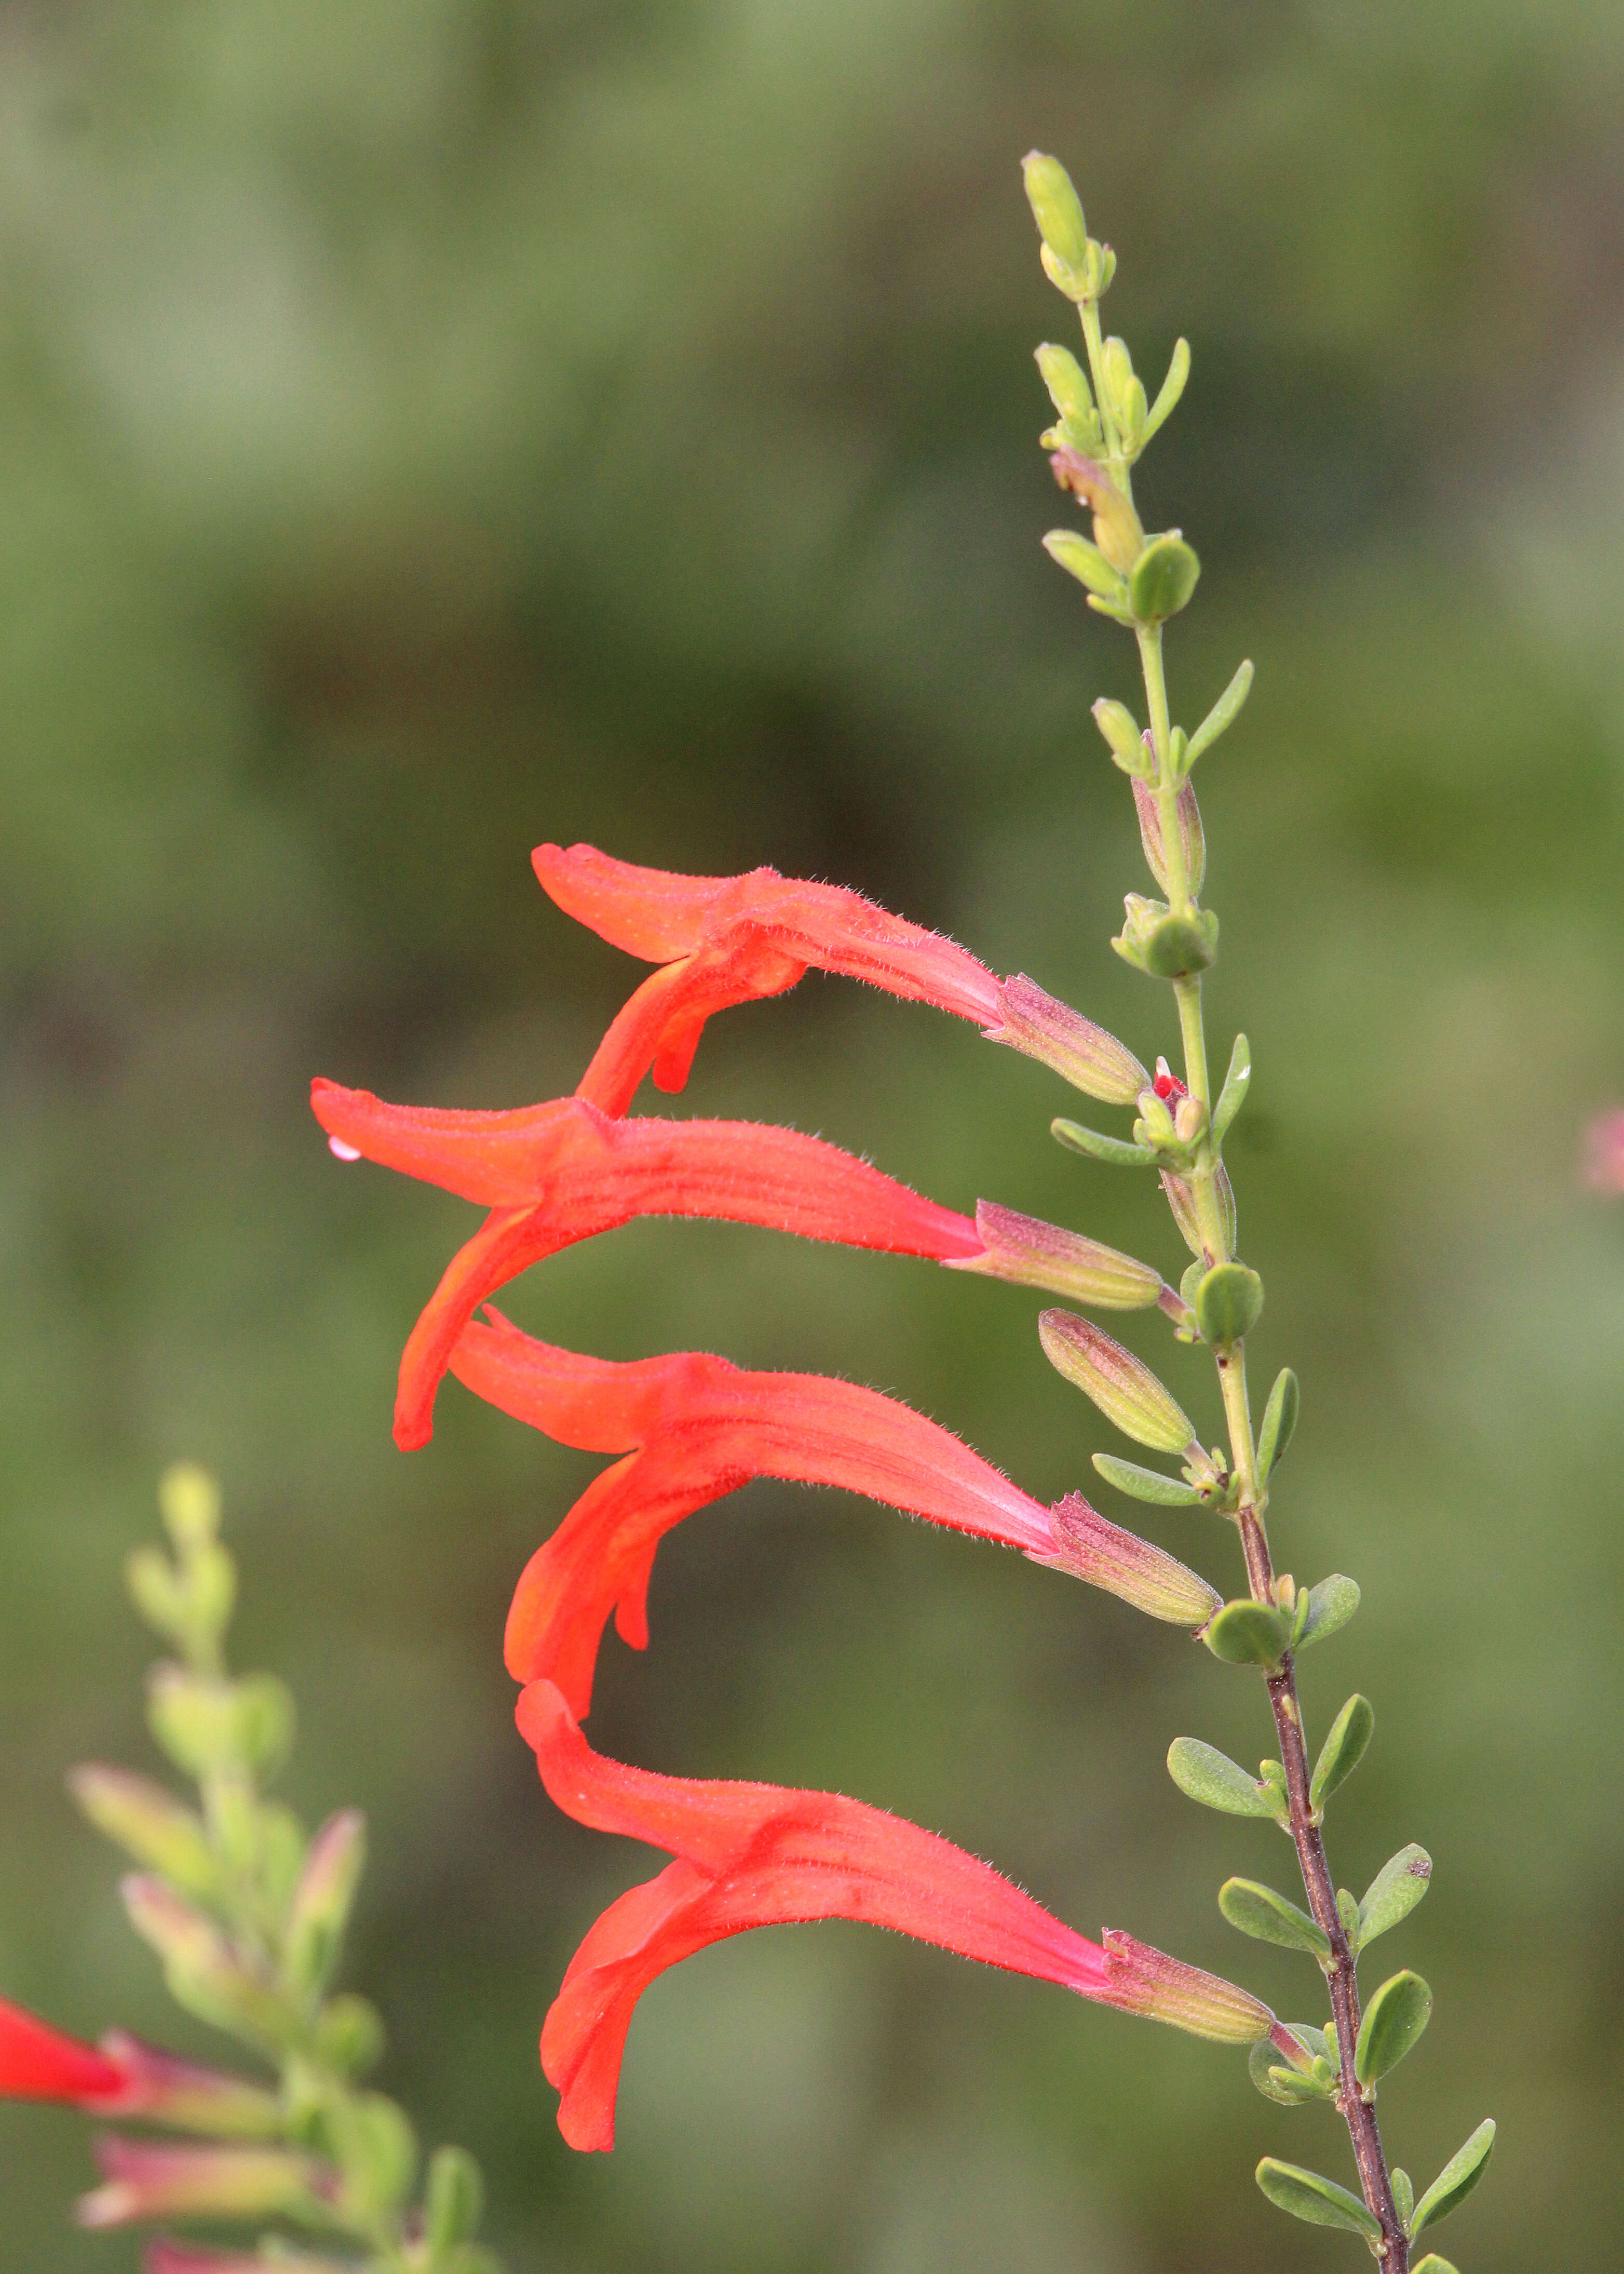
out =
{"type": "Polygon", "coordinates": [[[878,1389],[821,1373],[746,1373],[701,1351],[614,1364],[535,1342],[500,1314],[462,1330],[450,1371],[560,1444],[628,1455],[537,1549],[507,1615],[507,1671],[521,1683],[557,1683],[580,1717],[591,1708],[610,1612],[635,1651],[648,1644],[648,1574],[664,1533],[753,1476],[844,1485],[933,1524],[1060,1558],[1062,1542],[1037,1501],[878,1389]]]}

